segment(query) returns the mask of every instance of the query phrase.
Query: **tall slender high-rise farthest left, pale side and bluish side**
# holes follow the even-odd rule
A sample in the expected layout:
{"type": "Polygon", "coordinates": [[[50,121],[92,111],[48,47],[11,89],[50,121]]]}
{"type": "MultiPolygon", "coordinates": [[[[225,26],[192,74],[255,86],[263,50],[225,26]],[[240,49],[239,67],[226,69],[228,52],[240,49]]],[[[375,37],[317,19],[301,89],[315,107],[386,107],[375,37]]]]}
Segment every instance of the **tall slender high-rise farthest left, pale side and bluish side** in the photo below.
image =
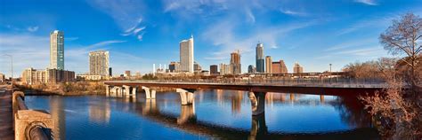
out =
{"type": "Polygon", "coordinates": [[[64,33],[59,30],[50,33],[50,68],[64,70],[64,33]]]}

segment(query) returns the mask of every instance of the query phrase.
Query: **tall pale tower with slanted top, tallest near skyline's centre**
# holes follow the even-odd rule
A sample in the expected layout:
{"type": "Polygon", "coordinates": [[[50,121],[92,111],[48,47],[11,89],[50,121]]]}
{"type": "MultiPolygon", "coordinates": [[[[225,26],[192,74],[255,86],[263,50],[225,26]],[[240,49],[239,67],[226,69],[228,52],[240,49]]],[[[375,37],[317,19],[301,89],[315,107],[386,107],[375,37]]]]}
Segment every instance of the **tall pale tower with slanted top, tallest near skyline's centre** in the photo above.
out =
{"type": "Polygon", "coordinates": [[[182,72],[193,73],[193,35],[188,40],[180,42],[180,68],[182,72]]]}

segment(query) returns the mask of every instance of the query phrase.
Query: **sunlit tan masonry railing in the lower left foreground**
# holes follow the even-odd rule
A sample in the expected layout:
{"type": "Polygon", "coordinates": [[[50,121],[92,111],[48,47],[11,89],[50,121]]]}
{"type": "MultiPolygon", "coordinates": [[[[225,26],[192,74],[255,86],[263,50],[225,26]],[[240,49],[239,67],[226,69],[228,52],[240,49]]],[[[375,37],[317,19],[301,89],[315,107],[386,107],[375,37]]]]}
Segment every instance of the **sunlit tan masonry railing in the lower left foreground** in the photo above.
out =
{"type": "Polygon", "coordinates": [[[25,96],[23,92],[15,91],[12,94],[12,117],[15,139],[52,139],[52,116],[45,111],[28,110],[27,105],[25,105],[24,98],[25,96]]]}

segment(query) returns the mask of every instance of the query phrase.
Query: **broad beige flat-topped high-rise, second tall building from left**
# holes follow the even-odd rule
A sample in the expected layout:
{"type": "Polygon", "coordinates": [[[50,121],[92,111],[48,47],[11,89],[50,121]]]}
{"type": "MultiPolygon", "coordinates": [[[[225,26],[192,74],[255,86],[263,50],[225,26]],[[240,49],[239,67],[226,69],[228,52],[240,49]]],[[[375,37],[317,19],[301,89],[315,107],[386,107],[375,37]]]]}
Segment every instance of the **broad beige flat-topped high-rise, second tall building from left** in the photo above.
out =
{"type": "Polygon", "coordinates": [[[89,52],[89,74],[107,76],[109,70],[109,51],[89,52]]]}

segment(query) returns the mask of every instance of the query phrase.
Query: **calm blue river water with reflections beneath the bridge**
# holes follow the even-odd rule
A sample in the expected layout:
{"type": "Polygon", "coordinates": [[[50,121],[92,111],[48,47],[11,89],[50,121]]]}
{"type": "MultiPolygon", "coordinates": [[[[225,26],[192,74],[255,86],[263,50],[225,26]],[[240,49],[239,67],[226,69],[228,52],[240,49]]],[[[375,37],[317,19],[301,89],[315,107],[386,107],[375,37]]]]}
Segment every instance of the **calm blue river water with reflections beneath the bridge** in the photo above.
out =
{"type": "Polygon", "coordinates": [[[197,90],[194,105],[176,92],[138,97],[26,97],[53,115],[53,136],[65,139],[377,138],[356,97],[267,93],[265,113],[252,117],[248,92],[197,90]]]}

